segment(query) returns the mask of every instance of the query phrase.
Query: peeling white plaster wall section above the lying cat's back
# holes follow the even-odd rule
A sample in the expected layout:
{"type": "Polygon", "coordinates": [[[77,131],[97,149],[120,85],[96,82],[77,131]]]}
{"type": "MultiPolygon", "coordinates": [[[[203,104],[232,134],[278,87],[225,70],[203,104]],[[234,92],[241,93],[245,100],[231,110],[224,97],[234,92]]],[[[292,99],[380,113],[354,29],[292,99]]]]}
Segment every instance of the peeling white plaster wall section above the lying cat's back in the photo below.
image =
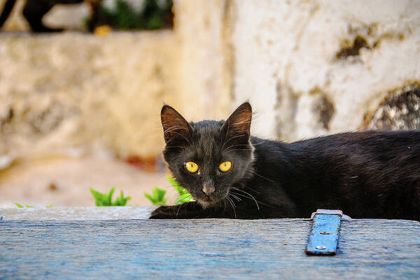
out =
{"type": "Polygon", "coordinates": [[[290,141],[360,129],[388,91],[420,80],[420,1],[233,2],[233,107],[251,100],[254,134],[290,141]],[[337,58],[356,36],[369,48],[337,58]],[[334,108],[328,127],[314,109],[320,98],[334,108]]]}

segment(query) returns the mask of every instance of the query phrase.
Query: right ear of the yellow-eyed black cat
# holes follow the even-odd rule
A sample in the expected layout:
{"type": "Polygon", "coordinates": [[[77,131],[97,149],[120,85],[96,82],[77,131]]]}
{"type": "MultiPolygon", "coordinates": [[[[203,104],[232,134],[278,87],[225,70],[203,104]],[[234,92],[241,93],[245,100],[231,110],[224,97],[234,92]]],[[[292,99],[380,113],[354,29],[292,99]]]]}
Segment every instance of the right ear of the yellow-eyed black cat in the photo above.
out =
{"type": "Polygon", "coordinates": [[[249,140],[251,135],[252,108],[248,102],[242,103],[235,112],[225,121],[222,126],[222,132],[227,139],[232,138],[235,141],[249,140]]]}

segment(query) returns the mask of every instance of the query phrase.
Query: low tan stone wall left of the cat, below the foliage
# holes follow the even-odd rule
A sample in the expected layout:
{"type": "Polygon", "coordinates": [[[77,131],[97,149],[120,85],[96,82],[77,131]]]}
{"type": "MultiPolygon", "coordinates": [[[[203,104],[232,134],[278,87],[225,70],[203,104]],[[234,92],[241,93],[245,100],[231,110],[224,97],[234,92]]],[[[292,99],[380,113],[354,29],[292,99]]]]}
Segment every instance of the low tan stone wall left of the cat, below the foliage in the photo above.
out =
{"type": "Polygon", "coordinates": [[[2,34],[0,154],[155,156],[163,101],[181,107],[172,31],[2,34]]]}

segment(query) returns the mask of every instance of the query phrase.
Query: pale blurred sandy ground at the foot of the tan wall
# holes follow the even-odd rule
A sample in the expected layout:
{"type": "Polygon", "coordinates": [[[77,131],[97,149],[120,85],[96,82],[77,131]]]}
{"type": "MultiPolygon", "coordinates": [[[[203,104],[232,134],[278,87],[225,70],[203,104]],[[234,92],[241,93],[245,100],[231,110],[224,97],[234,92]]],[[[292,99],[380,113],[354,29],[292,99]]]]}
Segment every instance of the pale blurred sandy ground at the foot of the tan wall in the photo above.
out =
{"type": "Polygon", "coordinates": [[[116,187],[114,198],[124,191],[132,199],[127,205],[152,205],[144,191],[153,186],[167,191],[167,204],[176,191],[165,172],[145,172],[113,159],[50,158],[23,161],[0,171],[0,207],[16,207],[14,202],[36,207],[94,206],[90,187],[108,192],[116,187]]]}

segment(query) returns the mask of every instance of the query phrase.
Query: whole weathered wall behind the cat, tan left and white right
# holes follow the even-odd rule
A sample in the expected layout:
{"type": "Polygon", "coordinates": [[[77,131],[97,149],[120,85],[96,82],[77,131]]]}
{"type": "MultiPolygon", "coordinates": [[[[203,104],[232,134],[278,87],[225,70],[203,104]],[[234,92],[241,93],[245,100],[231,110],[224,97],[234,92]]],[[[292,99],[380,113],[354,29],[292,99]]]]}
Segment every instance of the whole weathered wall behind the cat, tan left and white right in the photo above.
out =
{"type": "Polygon", "coordinates": [[[197,120],[250,100],[253,134],[287,141],[420,128],[419,11],[413,0],[180,0],[174,31],[5,32],[0,162],[154,156],[164,102],[197,120]]]}

